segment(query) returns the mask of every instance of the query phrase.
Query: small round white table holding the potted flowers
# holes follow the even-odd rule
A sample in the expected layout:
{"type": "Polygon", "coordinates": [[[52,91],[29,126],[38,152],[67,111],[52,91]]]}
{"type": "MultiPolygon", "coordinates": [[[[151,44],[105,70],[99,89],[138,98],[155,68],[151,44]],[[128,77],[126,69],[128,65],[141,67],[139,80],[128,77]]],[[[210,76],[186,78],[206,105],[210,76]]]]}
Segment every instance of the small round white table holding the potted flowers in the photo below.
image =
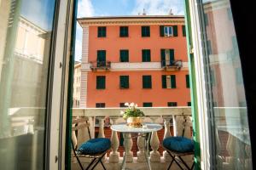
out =
{"type": "MultiPolygon", "coordinates": [[[[145,149],[146,149],[145,158],[147,160],[149,170],[151,170],[150,162],[149,162],[149,159],[148,159],[149,139],[150,139],[150,136],[151,136],[152,132],[159,131],[162,128],[163,128],[162,125],[157,124],[157,123],[150,123],[150,122],[143,123],[143,127],[129,127],[129,126],[126,125],[126,123],[116,124],[116,125],[111,126],[111,129],[113,131],[123,133],[124,143],[127,143],[127,140],[129,139],[129,137],[128,137],[129,133],[140,133],[140,134],[142,134],[141,136],[143,137],[143,139],[145,141],[145,149]]],[[[125,145],[125,155],[124,155],[123,162],[122,162],[122,167],[121,167],[122,170],[125,170],[126,153],[128,153],[129,151],[130,150],[127,150],[127,147],[125,145]]]]}

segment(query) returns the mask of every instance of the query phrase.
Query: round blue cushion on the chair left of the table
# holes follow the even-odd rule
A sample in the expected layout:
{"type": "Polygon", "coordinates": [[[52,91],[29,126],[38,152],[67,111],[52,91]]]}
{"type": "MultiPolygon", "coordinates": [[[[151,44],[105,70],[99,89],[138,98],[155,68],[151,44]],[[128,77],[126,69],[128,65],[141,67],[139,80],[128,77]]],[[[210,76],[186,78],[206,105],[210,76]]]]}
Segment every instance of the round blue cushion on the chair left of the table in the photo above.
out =
{"type": "Polygon", "coordinates": [[[81,144],[78,150],[78,154],[83,155],[96,155],[101,154],[106,150],[109,150],[111,147],[110,139],[106,138],[97,138],[97,139],[90,139],[84,144],[81,144]]]}

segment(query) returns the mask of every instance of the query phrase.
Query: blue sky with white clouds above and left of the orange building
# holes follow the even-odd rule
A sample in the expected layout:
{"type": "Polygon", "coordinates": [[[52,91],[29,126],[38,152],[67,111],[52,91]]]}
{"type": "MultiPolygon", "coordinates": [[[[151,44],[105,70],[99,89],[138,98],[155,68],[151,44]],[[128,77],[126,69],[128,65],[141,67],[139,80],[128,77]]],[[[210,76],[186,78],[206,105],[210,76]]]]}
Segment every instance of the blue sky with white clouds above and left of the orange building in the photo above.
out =
{"type": "MultiPolygon", "coordinates": [[[[184,14],[183,0],[79,0],[78,18],[90,16],[184,14]]],[[[75,60],[82,56],[82,28],[77,25],[75,60]]]]}

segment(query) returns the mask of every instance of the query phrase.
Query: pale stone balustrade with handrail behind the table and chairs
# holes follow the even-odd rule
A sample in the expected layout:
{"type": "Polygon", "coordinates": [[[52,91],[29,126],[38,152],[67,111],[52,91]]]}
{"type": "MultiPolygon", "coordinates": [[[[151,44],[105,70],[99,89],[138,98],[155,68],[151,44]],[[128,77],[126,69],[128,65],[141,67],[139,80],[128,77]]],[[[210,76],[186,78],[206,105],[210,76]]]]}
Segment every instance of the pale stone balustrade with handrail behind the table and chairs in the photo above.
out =
{"type": "MultiPolygon", "coordinates": [[[[170,108],[170,107],[165,107],[165,108],[140,108],[147,118],[144,119],[144,122],[157,122],[160,117],[163,117],[164,120],[164,126],[165,126],[165,134],[164,138],[166,139],[171,136],[170,132],[170,120],[173,118],[173,129],[174,129],[174,135],[183,135],[183,126],[185,125],[185,131],[184,131],[184,136],[190,138],[191,137],[191,132],[190,132],[190,127],[191,127],[191,121],[189,120],[189,116],[191,116],[190,108],[189,107],[181,107],[181,108],[170,108]],[[184,114],[186,122],[184,123],[184,116],[181,116],[184,114]]],[[[124,111],[124,109],[117,109],[117,108],[106,108],[106,109],[73,109],[73,116],[87,116],[89,117],[90,120],[90,135],[92,138],[94,138],[94,122],[95,119],[99,120],[99,133],[98,133],[98,138],[105,138],[105,133],[104,133],[104,120],[105,116],[109,116],[111,119],[111,122],[113,124],[120,123],[120,122],[125,122],[124,119],[121,118],[120,116],[120,111],[124,111]]],[[[81,144],[82,142],[86,141],[89,139],[89,135],[87,133],[87,129],[85,130],[79,130],[78,132],[78,144],[81,144]],[[84,133],[85,132],[85,133],[84,133]]],[[[124,134],[124,133],[123,133],[124,134]]],[[[74,134],[72,134],[74,135],[74,134]]],[[[131,151],[132,148],[132,139],[131,139],[131,133],[126,133],[126,161],[127,162],[132,162],[133,161],[133,152],[131,151]]],[[[141,136],[143,134],[139,134],[137,138],[137,162],[143,162],[145,160],[145,144],[144,144],[144,137],[141,136]]],[[[111,152],[109,154],[109,162],[111,163],[118,163],[120,162],[121,158],[119,156],[119,137],[117,132],[112,132],[111,133],[111,152]]],[[[125,138],[124,138],[125,139],[125,138]]],[[[150,145],[152,151],[150,151],[149,154],[149,160],[151,162],[160,162],[160,152],[159,152],[159,147],[160,147],[160,139],[158,137],[157,132],[154,132],[151,134],[150,138],[150,145]]],[[[166,151],[163,152],[163,158],[165,161],[169,161],[170,157],[166,154],[166,151]]],[[[108,161],[106,161],[108,162],[108,161]]]]}

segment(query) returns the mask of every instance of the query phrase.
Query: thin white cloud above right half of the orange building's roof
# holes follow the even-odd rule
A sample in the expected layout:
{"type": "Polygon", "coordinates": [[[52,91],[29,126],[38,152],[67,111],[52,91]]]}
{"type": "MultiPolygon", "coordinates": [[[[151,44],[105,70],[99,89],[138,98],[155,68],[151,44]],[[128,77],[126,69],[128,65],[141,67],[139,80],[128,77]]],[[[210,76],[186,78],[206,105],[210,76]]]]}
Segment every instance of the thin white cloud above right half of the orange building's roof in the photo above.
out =
{"type": "Polygon", "coordinates": [[[143,8],[146,14],[169,14],[171,8],[173,14],[184,14],[182,0],[136,0],[132,14],[143,14],[143,8]]]}

